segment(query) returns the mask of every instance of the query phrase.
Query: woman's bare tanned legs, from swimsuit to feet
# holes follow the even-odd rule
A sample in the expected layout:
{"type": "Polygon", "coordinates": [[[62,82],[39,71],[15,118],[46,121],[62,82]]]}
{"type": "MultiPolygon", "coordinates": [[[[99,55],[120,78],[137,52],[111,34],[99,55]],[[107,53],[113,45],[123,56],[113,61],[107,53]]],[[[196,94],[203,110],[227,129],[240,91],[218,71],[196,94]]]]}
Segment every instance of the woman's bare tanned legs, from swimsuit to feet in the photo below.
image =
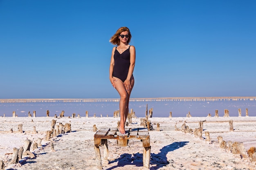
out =
{"type": "Polygon", "coordinates": [[[128,116],[128,112],[129,112],[129,108],[128,108],[128,104],[129,104],[129,99],[130,99],[130,93],[132,91],[132,87],[134,85],[134,79],[132,77],[131,79],[131,88],[129,91],[126,91],[125,87],[124,87],[124,83],[121,81],[121,79],[115,77],[115,79],[117,79],[117,81],[115,81],[115,87],[117,89],[117,92],[120,95],[120,103],[119,103],[119,109],[120,109],[120,129],[119,131],[122,134],[125,134],[125,122],[128,116]]]}

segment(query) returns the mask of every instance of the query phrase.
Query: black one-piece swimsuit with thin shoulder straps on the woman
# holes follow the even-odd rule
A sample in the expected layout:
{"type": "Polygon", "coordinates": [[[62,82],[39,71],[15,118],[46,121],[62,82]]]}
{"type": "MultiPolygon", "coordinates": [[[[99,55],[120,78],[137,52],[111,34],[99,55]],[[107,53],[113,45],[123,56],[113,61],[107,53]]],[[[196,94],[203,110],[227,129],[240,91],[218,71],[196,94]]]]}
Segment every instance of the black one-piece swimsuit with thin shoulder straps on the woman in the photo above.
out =
{"type": "Polygon", "coordinates": [[[123,82],[126,80],[129,67],[130,67],[130,46],[123,53],[117,51],[117,47],[114,53],[114,69],[113,76],[121,79],[123,82]]]}

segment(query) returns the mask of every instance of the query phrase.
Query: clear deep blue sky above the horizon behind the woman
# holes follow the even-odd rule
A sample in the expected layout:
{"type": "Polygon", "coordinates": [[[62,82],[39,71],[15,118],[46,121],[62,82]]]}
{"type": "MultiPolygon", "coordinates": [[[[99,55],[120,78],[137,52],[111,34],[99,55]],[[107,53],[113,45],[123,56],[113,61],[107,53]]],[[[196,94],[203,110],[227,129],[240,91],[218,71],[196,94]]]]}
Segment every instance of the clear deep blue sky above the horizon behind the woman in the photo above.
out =
{"type": "Polygon", "coordinates": [[[138,97],[256,96],[255,0],[0,0],[0,98],[118,98],[129,27],[138,97]]]}

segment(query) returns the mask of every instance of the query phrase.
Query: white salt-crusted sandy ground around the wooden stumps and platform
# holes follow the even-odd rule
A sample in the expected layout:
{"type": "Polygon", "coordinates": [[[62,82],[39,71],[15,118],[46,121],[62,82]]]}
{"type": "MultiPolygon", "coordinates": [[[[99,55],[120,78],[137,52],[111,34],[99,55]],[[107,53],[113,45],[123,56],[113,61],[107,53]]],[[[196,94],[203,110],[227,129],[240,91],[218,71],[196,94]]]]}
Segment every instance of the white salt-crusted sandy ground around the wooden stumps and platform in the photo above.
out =
{"type": "MultiPolygon", "coordinates": [[[[72,131],[46,141],[46,131],[51,129],[54,117],[0,117],[0,160],[5,170],[97,170],[94,153],[93,125],[98,129],[116,128],[119,118],[81,117],[57,118],[56,124],[71,123],[72,131]],[[32,121],[33,119],[33,121],[32,121]],[[18,132],[22,124],[23,132],[18,132]],[[33,126],[37,133],[33,133],[33,126]],[[10,129],[13,128],[13,132],[10,129]],[[13,148],[24,146],[30,139],[37,142],[42,138],[42,147],[30,149],[34,159],[22,157],[19,163],[10,164],[13,148]],[[54,150],[51,149],[54,144],[54,150]]],[[[227,149],[220,148],[218,136],[225,141],[243,142],[245,149],[256,146],[256,117],[153,117],[150,134],[150,170],[255,170],[255,162],[241,158],[227,149]],[[234,131],[229,131],[229,120],[233,120],[234,131]],[[211,141],[195,137],[193,133],[176,131],[186,126],[198,128],[204,121],[204,132],[210,133],[211,141]],[[157,131],[156,124],[161,131],[157,131]]],[[[127,128],[143,128],[140,118],[132,119],[127,128]]],[[[205,134],[202,135],[205,138],[205,134]]],[[[143,147],[141,141],[130,141],[128,146],[119,147],[117,141],[108,140],[109,157],[103,161],[104,170],[142,170],[143,147]]],[[[103,155],[103,149],[101,148],[103,155]]]]}

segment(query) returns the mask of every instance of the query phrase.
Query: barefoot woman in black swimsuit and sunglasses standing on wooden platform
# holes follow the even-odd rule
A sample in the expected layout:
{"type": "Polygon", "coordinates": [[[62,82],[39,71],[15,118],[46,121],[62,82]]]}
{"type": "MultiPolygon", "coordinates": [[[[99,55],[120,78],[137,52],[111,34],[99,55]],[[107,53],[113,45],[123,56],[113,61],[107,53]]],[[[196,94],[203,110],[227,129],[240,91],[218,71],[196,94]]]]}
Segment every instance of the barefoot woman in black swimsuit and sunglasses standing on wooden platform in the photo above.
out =
{"type": "Polygon", "coordinates": [[[129,99],[134,85],[132,75],[135,66],[135,47],[130,46],[132,38],[127,27],[121,27],[110,38],[110,43],[117,45],[112,50],[109,79],[112,86],[120,95],[120,128],[119,131],[125,134],[125,122],[129,112],[129,99]]]}

